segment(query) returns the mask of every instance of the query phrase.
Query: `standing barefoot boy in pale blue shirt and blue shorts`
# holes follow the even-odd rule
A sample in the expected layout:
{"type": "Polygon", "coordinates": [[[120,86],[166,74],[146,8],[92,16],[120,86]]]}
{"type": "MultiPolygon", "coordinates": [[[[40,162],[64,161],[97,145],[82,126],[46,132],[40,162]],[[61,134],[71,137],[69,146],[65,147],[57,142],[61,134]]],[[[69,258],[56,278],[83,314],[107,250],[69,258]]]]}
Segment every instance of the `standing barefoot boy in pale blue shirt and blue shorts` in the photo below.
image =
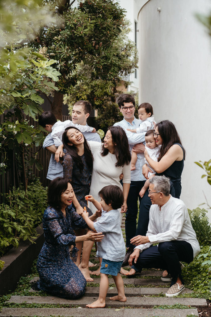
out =
{"type": "Polygon", "coordinates": [[[91,221],[88,213],[84,212],[82,215],[91,230],[104,234],[102,242],[97,243],[97,256],[102,257],[99,297],[92,304],[86,305],[89,308],[105,307],[109,274],[112,275],[118,290],[118,295],[109,297],[110,300],[126,301],[123,280],[119,274],[125,257],[125,243],[120,227],[120,213],[117,210],[124,202],[123,192],[118,186],[110,185],[103,187],[98,195],[101,198],[100,203],[91,195],[86,197],[98,210],[102,209],[99,221],[91,221]]]}

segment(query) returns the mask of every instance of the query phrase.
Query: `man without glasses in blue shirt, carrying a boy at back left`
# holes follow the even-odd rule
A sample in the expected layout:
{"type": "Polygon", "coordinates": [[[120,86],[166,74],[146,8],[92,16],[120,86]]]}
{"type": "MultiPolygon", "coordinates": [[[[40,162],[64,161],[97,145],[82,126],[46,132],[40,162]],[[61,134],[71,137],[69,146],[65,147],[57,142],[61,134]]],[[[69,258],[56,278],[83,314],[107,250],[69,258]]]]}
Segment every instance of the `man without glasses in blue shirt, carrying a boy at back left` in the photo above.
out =
{"type": "MultiPolygon", "coordinates": [[[[90,112],[87,112],[87,111],[91,112],[90,102],[85,100],[77,101],[72,108],[72,123],[80,124],[82,126],[88,127],[86,120],[89,117],[90,112]]],[[[88,141],[101,142],[101,139],[98,133],[83,132],[83,135],[88,141]]],[[[54,141],[53,141],[53,138],[51,137],[51,133],[49,133],[47,137],[45,138],[43,142],[43,148],[52,153],[49,166],[48,166],[47,178],[52,180],[56,177],[63,177],[63,166],[61,165],[61,163],[57,163],[54,160],[54,154],[57,148],[54,145],[54,141]]]]}

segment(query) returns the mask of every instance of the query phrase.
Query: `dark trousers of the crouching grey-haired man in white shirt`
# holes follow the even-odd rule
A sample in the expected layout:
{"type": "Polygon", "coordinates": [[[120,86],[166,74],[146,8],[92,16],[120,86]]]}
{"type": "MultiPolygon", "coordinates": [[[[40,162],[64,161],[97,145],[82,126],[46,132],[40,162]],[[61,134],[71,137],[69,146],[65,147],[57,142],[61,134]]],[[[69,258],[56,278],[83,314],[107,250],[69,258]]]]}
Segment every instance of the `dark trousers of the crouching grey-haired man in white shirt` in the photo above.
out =
{"type": "Polygon", "coordinates": [[[161,242],[155,246],[140,252],[137,262],[133,266],[136,271],[141,272],[142,268],[162,268],[166,269],[172,277],[171,286],[174,285],[179,276],[182,278],[182,271],[179,261],[190,263],[193,261],[193,248],[186,241],[161,242]]]}

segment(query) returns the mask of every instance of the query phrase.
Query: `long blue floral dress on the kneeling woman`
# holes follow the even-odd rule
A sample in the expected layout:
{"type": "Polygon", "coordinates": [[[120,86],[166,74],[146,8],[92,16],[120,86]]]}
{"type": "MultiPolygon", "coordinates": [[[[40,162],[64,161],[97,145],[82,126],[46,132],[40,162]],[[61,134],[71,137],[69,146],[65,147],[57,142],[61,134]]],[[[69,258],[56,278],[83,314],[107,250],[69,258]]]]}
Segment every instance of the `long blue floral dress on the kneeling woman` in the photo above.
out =
{"type": "Polygon", "coordinates": [[[75,299],[85,292],[86,280],[79,268],[70,259],[69,245],[72,253],[77,255],[75,246],[75,226],[87,228],[84,219],[77,214],[74,207],[66,208],[66,217],[61,210],[48,207],[43,215],[45,242],[37,261],[40,290],[59,297],[75,299]]]}

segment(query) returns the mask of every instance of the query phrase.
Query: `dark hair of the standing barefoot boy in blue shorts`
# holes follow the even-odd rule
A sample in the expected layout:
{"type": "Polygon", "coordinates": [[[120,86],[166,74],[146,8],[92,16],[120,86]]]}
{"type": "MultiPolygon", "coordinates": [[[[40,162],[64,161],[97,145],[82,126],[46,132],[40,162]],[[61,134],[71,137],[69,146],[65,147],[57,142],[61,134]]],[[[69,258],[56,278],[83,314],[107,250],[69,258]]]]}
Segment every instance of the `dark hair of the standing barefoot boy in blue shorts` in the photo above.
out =
{"type": "Polygon", "coordinates": [[[118,209],[124,203],[124,196],[121,188],[116,185],[105,186],[98,195],[104,199],[105,203],[111,204],[113,209],[118,209]]]}

